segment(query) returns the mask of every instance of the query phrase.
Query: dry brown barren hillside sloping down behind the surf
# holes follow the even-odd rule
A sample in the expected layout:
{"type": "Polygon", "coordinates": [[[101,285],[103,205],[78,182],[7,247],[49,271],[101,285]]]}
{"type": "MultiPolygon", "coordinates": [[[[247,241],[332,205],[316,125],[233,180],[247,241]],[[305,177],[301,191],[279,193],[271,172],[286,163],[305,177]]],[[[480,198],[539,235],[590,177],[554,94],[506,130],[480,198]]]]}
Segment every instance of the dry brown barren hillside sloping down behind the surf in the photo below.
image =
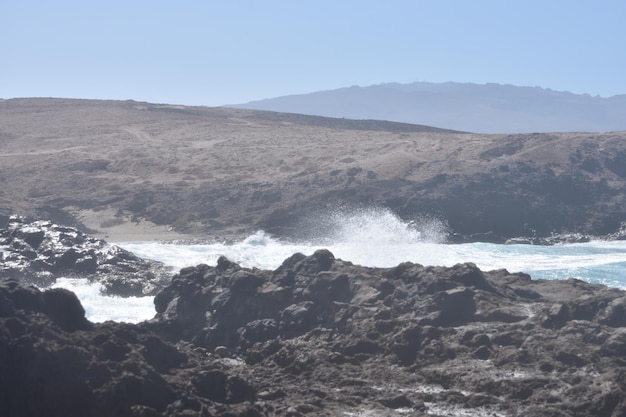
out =
{"type": "Polygon", "coordinates": [[[384,206],[452,233],[606,235],[626,220],[626,132],[484,135],[134,101],[0,101],[0,215],[106,234],[298,233],[335,207],[384,206]],[[156,225],[156,226],[155,226],[156,225]]]}

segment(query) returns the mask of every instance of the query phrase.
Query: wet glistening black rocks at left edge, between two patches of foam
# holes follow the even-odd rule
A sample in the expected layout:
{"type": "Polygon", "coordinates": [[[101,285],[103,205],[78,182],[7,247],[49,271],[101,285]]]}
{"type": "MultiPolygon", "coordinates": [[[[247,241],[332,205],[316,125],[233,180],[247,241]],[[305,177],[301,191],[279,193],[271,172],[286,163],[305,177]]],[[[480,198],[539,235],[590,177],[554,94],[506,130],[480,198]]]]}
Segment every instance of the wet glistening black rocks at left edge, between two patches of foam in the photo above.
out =
{"type": "Polygon", "coordinates": [[[87,277],[108,294],[137,296],[156,294],[171,273],[73,227],[11,216],[0,229],[0,276],[39,286],[59,277],[87,277]]]}

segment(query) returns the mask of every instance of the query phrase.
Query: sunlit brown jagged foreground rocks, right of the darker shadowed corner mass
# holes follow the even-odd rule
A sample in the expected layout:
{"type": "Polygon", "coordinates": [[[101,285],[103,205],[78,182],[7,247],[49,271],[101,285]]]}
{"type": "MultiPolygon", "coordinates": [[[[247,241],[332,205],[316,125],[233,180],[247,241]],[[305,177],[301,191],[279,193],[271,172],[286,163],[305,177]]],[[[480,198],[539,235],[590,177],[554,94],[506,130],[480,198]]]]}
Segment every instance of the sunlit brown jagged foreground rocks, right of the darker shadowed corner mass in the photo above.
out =
{"type": "Polygon", "coordinates": [[[322,250],[276,271],[225,258],[184,269],[150,326],[243,358],[258,397],[292,415],[617,416],[625,297],[473,264],[364,268],[322,250]]]}

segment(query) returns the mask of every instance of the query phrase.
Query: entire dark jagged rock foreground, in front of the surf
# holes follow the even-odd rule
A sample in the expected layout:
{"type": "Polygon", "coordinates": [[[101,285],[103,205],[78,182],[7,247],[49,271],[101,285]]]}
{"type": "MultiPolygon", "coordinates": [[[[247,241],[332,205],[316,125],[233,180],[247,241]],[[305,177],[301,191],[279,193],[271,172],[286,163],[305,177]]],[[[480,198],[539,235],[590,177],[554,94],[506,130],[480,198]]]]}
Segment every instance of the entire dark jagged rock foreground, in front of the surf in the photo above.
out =
{"type": "Polygon", "coordinates": [[[185,268],[137,325],[79,306],[2,281],[3,415],[626,415],[626,293],[578,280],[320,250],[185,268]]]}

